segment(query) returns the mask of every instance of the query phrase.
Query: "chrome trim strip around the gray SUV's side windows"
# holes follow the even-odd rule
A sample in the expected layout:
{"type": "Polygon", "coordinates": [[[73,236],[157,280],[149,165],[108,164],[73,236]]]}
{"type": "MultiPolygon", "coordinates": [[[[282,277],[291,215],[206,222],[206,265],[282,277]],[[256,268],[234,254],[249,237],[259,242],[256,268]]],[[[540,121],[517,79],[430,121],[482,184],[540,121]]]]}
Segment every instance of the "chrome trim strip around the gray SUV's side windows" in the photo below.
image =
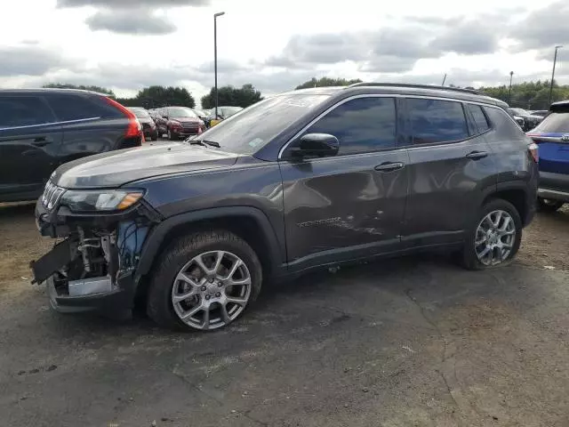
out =
{"type": "MultiPolygon", "coordinates": [[[[413,94],[404,94],[404,93],[364,93],[364,94],[359,94],[359,95],[353,95],[350,96],[348,98],[345,98],[341,101],[336,102],[332,107],[326,109],[322,114],[318,115],[318,117],[314,118],[312,121],[310,121],[310,123],[306,126],[304,126],[301,131],[299,131],[298,133],[295,133],[293,138],[291,138],[289,141],[286,141],[286,143],[284,144],[283,148],[281,148],[278,151],[278,157],[276,157],[276,161],[280,161],[283,158],[283,152],[285,149],[288,148],[288,146],[295,141],[303,132],[305,132],[311,125],[314,125],[318,120],[320,120],[322,117],[325,117],[326,114],[328,114],[330,111],[332,111],[333,109],[340,107],[343,103],[348,102],[348,101],[352,101],[352,100],[357,100],[358,98],[403,98],[403,99],[407,99],[407,98],[414,98],[414,99],[425,99],[425,100],[437,100],[437,101],[449,101],[449,102],[459,102],[461,104],[465,104],[465,103],[470,103],[470,104],[477,104],[477,105],[481,105],[484,107],[491,107],[493,109],[501,109],[501,107],[498,107],[496,105],[493,104],[489,104],[489,103],[485,103],[485,102],[481,102],[481,101],[463,101],[463,100],[459,100],[456,98],[445,98],[445,97],[441,97],[441,96],[429,96],[429,95],[413,95],[413,94]]],[[[503,109],[501,109],[503,111],[503,109]]],[[[504,114],[506,114],[506,116],[508,116],[512,121],[514,121],[514,119],[512,117],[509,116],[508,113],[504,112],[504,114]]],[[[466,119],[466,117],[464,117],[466,119]]],[[[517,125],[517,123],[514,121],[514,123],[517,125]]],[[[489,132],[486,131],[486,132],[489,132]]],[[[421,148],[421,147],[432,147],[433,145],[444,145],[444,144],[448,144],[448,143],[456,143],[456,142],[463,142],[463,141],[469,141],[471,138],[477,137],[482,133],[479,133],[477,135],[472,135],[469,136],[469,138],[464,139],[464,140],[457,140],[457,141],[445,141],[445,142],[434,142],[433,144],[424,144],[423,146],[413,146],[413,145],[408,145],[405,147],[396,147],[395,149],[389,150],[389,151],[396,151],[398,149],[413,149],[413,148],[421,148]]],[[[379,151],[370,151],[369,153],[354,153],[352,155],[345,155],[342,157],[348,157],[348,156],[361,156],[362,154],[377,154],[377,153],[381,153],[381,152],[385,152],[387,150],[379,150],[379,151]]],[[[314,159],[311,159],[314,160],[314,159]]]]}

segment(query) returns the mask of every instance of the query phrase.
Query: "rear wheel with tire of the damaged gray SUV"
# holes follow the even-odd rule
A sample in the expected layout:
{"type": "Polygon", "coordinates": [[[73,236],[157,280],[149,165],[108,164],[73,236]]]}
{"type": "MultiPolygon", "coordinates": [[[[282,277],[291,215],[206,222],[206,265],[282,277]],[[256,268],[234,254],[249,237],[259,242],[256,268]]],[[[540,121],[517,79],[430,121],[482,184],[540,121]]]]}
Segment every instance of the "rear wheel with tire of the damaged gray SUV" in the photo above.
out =
{"type": "Polygon", "coordinates": [[[522,240],[522,220],[514,205],[495,198],[487,202],[468,230],[460,261],[468,270],[508,265],[522,240]]]}

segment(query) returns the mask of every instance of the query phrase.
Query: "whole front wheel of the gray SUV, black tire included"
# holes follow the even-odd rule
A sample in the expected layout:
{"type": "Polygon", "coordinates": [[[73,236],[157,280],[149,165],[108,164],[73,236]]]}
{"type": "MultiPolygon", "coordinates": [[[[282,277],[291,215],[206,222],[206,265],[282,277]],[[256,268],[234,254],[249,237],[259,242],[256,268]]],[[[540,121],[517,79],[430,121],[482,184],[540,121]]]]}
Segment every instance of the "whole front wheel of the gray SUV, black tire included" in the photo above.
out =
{"type": "Polygon", "coordinates": [[[262,270],[257,254],[226,230],[175,240],[156,266],[147,311],[160,326],[218,329],[241,317],[260,293],[262,270]]]}

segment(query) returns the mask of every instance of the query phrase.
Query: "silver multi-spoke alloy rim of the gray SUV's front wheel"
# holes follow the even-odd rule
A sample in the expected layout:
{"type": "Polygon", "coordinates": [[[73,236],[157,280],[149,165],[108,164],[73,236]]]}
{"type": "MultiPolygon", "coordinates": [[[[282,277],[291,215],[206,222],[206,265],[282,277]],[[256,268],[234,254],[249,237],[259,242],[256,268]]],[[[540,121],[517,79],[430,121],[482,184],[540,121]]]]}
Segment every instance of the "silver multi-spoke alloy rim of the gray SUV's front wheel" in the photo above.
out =
{"type": "Polygon", "coordinates": [[[172,306],[178,318],[196,329],[217,329],[235,320],[251,296],[251,274],[236,254],[198,254],[174,279],[172,306]]]}

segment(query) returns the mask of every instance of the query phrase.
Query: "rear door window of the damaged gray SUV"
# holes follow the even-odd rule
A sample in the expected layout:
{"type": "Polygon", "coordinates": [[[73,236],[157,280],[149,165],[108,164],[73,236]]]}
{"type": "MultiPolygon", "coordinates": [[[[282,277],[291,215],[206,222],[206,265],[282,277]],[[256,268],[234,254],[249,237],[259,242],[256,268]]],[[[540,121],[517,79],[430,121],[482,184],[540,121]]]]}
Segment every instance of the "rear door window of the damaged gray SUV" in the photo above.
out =
{"type": "Polygon", "coordinates": [[[413,144],[460,141],[469,137],[461,102],[408,98],[413,144]]]}

